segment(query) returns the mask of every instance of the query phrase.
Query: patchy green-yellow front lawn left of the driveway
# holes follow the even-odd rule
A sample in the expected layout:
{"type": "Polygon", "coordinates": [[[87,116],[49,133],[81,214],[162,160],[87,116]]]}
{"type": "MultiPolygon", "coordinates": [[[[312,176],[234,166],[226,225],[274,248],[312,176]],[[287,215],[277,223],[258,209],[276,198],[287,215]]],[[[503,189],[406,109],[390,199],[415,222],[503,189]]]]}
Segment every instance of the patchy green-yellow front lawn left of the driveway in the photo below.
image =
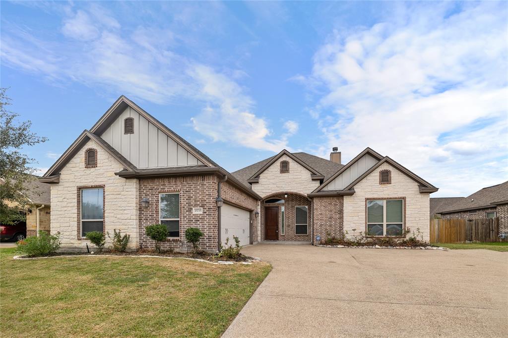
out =
{"type": "Polygon", "coordinates": [[[0,249],[2,335],[218,337],[270,272],[267,263],[63,257],[0,249]]]}

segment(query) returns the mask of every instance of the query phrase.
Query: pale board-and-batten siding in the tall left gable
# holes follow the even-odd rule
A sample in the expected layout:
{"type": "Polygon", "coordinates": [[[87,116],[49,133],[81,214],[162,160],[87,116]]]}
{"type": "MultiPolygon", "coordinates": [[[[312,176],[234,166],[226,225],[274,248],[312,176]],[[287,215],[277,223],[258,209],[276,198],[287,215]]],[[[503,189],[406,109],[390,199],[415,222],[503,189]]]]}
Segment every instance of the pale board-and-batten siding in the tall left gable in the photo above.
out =
{"type": "Polygon", "coordinates": [[[132,108],[106,129],[101,138],[138,168],[203,164],[132,108]],[[124,120],[134,118],[134,133],[123,133],[124,120]]]}

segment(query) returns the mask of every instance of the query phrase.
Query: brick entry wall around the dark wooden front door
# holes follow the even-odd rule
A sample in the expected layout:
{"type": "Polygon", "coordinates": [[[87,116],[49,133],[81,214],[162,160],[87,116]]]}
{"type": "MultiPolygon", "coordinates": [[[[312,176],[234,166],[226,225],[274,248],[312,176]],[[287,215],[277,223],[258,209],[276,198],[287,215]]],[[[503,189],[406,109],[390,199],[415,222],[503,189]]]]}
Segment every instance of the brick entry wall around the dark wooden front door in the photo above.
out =
{"type": "Polygon", "coordinates": [[[265,240],[265,206],[279,207],[279,241],[310,241],[312,237],[312,204],[307,197],[288,193],[288,197],[284,198],[284,194],[271,195],[270,198],[284,199],[284,234],[281,233],[280,222],[280,204],[261,203],[261,241],[265,240]],[[307,206],[307,234],[300,235],[295,233],[295,207],[307,206]]]}

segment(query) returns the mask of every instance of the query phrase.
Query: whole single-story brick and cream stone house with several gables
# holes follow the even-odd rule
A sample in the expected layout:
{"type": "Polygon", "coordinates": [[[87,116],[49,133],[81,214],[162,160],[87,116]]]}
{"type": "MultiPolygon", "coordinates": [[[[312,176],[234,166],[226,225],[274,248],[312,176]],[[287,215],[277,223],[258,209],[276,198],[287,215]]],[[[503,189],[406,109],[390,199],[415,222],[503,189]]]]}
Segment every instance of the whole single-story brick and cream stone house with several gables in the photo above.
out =
{"type": "Polygon", "coordinates": [[[241,245],[367,233],[429,240],[429,194],[437,188],[367,148],[346,164],[307,153],[279,154],[229,173],[128,98],[113,106],[49,168],[51,232],[83,250],[89,231],[131,235],[151,248],[145,227],[165,224],[163,248],[187,250],[185,229],[204,233],[216,251],[241,245]]]}

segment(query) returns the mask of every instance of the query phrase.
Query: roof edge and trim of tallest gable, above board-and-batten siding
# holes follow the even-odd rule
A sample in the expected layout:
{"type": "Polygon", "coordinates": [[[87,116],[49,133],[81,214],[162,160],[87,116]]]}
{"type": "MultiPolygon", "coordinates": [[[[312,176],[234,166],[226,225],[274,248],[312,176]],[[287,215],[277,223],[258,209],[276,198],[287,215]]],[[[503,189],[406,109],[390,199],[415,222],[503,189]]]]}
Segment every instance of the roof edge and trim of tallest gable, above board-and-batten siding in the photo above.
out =
{"type": "Polygon", "coordinates": [[[96,122],[91,128],[90,132],[96,135],[101,135],[110,125],[113,123],[118,116],[122,114],[122,112],[126,108],[134,109],[138,114],[143,116],[149,122],[154,124],[158,129],[164,132],[169,138],[182,146],[185,150],[193,154],[200,161],[205,163],[208,166],[218,166],[217,163],[212,161],[212,159],[206,156],[203,152],[201,152],[198,148],[194,147],[192,144],[188,143],[185,139],[179,136],[176,132],[168,128],[164,123],[154,118],[152,115],[147,113],[141,107],[132,102],[129,98],[121,95],[115,101],[115,103],[104,113],[104,115],[96,122]]]}

